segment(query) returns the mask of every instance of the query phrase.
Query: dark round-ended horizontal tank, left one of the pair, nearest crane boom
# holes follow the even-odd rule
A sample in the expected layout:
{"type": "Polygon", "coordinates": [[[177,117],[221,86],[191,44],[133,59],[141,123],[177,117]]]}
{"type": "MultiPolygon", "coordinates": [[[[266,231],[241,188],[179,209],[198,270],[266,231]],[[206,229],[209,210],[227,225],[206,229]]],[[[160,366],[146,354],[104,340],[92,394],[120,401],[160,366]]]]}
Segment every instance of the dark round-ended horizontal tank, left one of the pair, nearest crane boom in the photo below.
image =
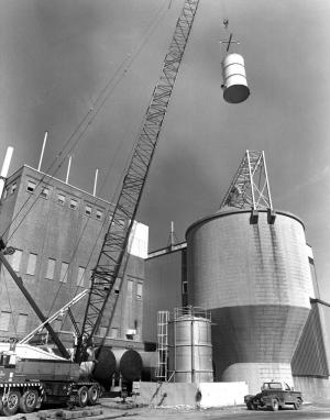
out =
{"type": "Polygon", "coordinates": [[[112,350],[108,346],[99,347],[96,350],[95,364],[92,376],[106,388],[110,386],[112,375],[116,372],[117,361],[112,350]]]}

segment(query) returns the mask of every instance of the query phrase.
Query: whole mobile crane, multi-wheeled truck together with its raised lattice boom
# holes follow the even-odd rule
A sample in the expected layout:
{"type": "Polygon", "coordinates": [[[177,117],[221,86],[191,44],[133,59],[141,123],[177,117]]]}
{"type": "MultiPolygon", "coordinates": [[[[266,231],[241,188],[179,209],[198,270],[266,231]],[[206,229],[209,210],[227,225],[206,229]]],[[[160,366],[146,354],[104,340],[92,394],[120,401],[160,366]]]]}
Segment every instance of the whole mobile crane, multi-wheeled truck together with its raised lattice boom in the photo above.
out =
{"type": "MultiPolygon", "coordinates": [[[[32,412],[42,402],[68,401],[80,407],[98,401],[102,375],[107,371],[107,357],[102,355],[102,343],[97,361],[88,360],[95,346],[94,336],[99,330],[107,310],[108,325],[111,323],[118,296],[114,283],[121,283],[128,263],[128,242],[136,217],[143,188],[160,137],[167,106],[173,92],[185,47],[190,34],[199,0],[185,0],[177,20],[173,40],[164,59],[163,69],[147,107],[138,142],[135,144],[111,221],[92,270],[85,318],[79,331],[74,357],[46,322],[21,277],[6,258],[14,250],[0,241],[0,262],[7,268],[32,309],[47,329],[58,347],[59,356],[50,355],[41,349],[28,344],[0,347],[0,412],[12,416],[19,409],[32,412]],[[114,296],[114,299],[110,299],[114,296]],[[109,302],[110,308],[109,308],[109,302]],[[102,368],[98,366],[102,360],[102,368]],[[97,372],[101,375],[97,375],[97,372]],[[81,374],[81,372],[84,374],[81,374]]],[[[77,324],[74,323],[77,330],[77,324]]]]}

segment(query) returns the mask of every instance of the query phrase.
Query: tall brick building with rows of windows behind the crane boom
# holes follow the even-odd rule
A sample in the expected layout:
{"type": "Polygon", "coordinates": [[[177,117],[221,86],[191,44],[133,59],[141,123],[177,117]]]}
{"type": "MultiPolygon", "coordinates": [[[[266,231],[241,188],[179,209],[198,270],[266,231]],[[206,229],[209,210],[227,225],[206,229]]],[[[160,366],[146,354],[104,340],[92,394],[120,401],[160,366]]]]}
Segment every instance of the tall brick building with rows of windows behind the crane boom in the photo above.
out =
{"type": "MultiPolygon", "coordinates": [[[[110,222],[111,205],[59,179],[23,166],[11,175],[2,194],[0,232],[15,253],[8,256],[15,273],[45,317],[90,286],[91,270],[110,222]]],[[[98,334],[108,342],[142,346],[143,257],[147,226],[135,223],[130,258],[111,325],[102,319],[98,334]],[[134,235],[135,233],[135,235],[134,235]]],[[[9,273],[1,267],[0,339],[21,339],[40,324],[9,273]]],[[[120,289],[120,292],[119,292],[120,289]]],[[[87,298],[72,311],[81,327],[87,298]]],[[[53,328],[70,344],[73,325],[66,314],[53,328]]]]}

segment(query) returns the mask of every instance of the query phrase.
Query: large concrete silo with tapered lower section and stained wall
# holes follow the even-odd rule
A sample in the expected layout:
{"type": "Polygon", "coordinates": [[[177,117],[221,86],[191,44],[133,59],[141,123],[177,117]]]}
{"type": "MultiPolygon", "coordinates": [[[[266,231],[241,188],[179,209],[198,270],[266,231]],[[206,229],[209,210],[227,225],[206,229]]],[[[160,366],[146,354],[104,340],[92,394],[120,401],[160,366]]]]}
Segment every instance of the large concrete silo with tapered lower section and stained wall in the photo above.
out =
{"type": "Polygon", "coordinates": [[[218,212],[187,230],[189,305],[211,311],[216,380],[293,384],[312,296],[302,222],[266,210],[218,212]],[[274,220],[273,220],[274,222],[274,220]],[[272,223],[273,223],[272,222],[272,223]]]}

